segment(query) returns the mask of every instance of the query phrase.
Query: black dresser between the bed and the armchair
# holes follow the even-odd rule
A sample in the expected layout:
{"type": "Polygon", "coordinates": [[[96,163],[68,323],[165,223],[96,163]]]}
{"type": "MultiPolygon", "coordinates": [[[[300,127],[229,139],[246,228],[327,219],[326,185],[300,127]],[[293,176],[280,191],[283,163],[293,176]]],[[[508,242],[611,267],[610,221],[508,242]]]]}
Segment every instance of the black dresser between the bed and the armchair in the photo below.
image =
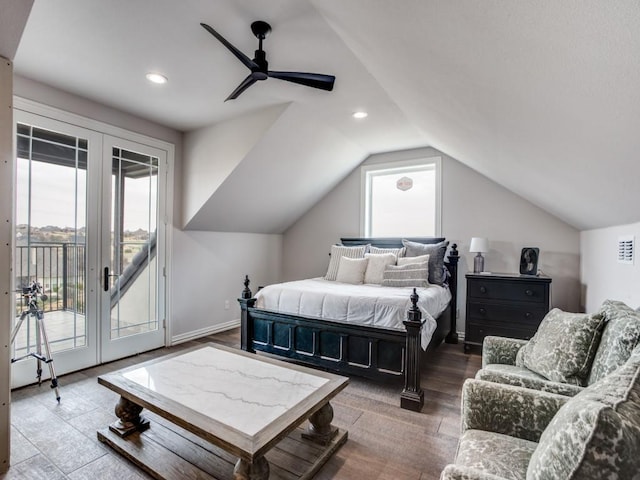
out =
{"type": "Polygon", "coordinates": [[[549,311],[551,278],[509,273],[467,277],[464,350],[482,346],[487,335],[531,338],[549,311]]]}

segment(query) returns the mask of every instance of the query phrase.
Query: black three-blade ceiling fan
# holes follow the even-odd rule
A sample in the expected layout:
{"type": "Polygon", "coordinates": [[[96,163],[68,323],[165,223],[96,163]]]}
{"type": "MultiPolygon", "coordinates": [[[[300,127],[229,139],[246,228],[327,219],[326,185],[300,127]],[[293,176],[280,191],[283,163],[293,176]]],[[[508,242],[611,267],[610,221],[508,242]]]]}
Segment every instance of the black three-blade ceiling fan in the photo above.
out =
{"type": "Polygon", "coordinates": [[[333,75],[324,75],[322,73],[302,73],[302,72],[276,72],[269,70],[269,63],[267,62],[267,54],[262,49],[262,40],[271,32],[271,25],[261,20],[253,22],[251,24],[251,31],[258,39],[258,50],[255,51],[255,58],[251,60],[244,53],[231,45],[222,35],[216,32],[206,23],[201,23],[206,31],[216,37],[220,43],[229,49],[238,60],[240,60],[245,67],[251,70],[251,73],[245,78],[238,87],[231,92],[226,99],[234,100],[240,96],[251,85],[258,80],[266,80],[267,78],[278,78],[280,80],[286,80],[287,82],[293,82],[307,87],[319,88],[321,90],[331,91],[333,90],[333,83],[336,77],[333,75]]]}

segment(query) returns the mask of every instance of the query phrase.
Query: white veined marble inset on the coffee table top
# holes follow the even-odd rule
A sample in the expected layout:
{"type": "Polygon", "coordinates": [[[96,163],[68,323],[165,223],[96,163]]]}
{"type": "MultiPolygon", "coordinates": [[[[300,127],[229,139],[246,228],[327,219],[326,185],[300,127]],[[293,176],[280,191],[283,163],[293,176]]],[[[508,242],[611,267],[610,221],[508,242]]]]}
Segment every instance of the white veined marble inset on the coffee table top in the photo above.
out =
{"type": "Polygon", "coordinates": [[[212,346],[123,376],[247,435],[255,435],[329,381],[212,346]]]}

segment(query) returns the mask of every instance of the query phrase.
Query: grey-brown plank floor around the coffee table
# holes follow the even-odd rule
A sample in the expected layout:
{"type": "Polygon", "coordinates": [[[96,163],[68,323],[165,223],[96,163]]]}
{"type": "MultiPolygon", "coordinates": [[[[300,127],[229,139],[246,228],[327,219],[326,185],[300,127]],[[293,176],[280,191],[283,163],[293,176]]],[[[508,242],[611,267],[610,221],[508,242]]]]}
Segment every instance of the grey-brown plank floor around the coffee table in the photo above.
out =
{"type": "MultiPolygon", "coordinates": [[[[98,385],[108,371],[213,341],[239,346],[233,330],[60,377],[58,405],[48,384],[15,390],[11,404],[11,468],[6,480],[147,479],[144,472],[97,440],[96,431],[114,420],[118,396],[98,385]]],[[[422,412],[399,407],[402,385],[352,378],[332,401],[334,424],[349,439],[315,476],[316,480],[362,478],[431,480],[453,460],[459,435],[460,387],[480,368],[477,354],[462,344],[443,344],[427,359],[422,375],[422,412]]]]}

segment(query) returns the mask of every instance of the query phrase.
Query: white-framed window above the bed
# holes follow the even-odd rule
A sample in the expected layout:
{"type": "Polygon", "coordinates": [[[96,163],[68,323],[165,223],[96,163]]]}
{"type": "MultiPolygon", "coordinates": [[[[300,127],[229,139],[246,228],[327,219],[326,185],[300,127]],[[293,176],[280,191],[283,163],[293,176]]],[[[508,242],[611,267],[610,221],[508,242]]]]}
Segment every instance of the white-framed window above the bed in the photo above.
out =
{"type": "Polygon", "coordinates": [[[440,157],[362,167],[365,237],[440,235],[440,157]]]}

